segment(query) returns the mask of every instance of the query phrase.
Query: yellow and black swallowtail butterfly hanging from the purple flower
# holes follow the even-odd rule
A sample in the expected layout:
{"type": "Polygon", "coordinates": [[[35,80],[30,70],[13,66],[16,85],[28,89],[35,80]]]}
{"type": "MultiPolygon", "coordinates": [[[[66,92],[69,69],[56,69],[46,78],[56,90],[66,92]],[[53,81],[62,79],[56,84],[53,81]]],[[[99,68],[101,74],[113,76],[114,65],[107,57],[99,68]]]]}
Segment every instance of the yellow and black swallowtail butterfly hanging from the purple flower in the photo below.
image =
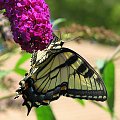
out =
{"type": "Polygon", "coordinates": [[[43,51],[34,52],[31,69],[20,81],[16,98],[22,95],[28,113],[32,107],[49,105],[61,95],[72,98],[105,101],[107,91],[93,67],[75,51],[62,47],[54,35],[43,51]]]}

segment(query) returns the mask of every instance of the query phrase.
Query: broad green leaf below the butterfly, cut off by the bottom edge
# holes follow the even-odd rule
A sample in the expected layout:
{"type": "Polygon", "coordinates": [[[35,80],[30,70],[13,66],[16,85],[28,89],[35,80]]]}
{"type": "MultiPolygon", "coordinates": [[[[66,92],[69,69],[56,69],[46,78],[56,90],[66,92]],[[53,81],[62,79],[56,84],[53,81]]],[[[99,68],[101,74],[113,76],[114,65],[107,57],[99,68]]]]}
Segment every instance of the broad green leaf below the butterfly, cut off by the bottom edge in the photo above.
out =
{"type": "Polygon", "coordinates": [[[35,109],[37,120],[56,120],[50,106],[42,106],[35,109]]]}

